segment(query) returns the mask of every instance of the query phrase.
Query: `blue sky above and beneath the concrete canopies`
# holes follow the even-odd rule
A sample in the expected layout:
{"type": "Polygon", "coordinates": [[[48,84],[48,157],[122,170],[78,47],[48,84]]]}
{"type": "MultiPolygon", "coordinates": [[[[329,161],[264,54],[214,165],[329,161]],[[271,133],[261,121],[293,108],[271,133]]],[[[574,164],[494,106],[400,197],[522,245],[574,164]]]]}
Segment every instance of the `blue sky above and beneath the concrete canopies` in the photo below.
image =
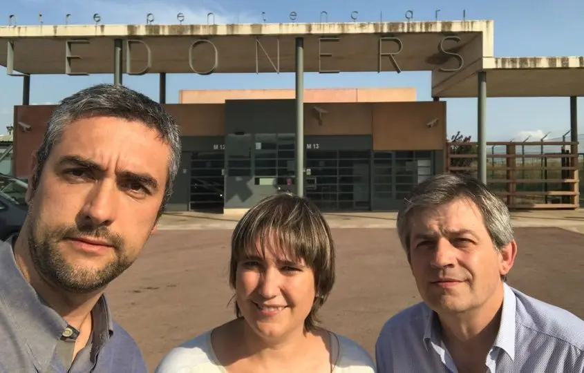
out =
{"type": "MultiPolygon", "coordinates": [[[[187,23],[207,23],[207,12],[214,12],[216,23],[319,21],[322,10],[328,21],[351,21],[353,10],[359,21],[405,21],[406,10],[414,10],[416,21],[431,21],[440,9],[440,19],[460,20],[462,10],[467,19],[492,19],[495,25],[497,57],[579,56],[584,55],[584,1],[559,0],[16,0],[5,1],[0,8],[0,25],[8,24],[8,15],[17,15],[19,25],[38,24],[42,13],[44,24],[62,24],[71,14],[70,23],[91,24],[93,14],[100,13],[102,23],[145,23],[146,15],[155,15],[155,23],[177,23],[178,12],[187,23]]],[[[76,90],[100,82],[113,82],[113,75],[68,77],[66,75],[32,76],[31,104],[56,103],[76,90]]],[[[158,99],[158,75],[129,77],[124,84],[158,99]]],[[[584,84],[584,82],[583,82],[584,84]]],[[[340,73],[305,75],[306,88],[342,87],[415,87],[419,100],[431,99],[431,74],[422,73],[340,73]]],[[[169,75],[167,102],[178,102],[180,89],[293,88],[293,74],[247,74],[199,76],[169,75]]],[[[21,104],[22,79],[8,77],[0,67],[0,133],[12,122],[12,106],[21,104]]],[[[487,88],[488,91],[488,88],[487,88]]],[[[462,131],[476,135],[476,99],[448,99],[449,134],[462,131]]],[[[584,133],[584,98],[578,99],[579,133],[584,133]]],[[[491,98],[487,100],[487,135],[489,140],[531,140],[550,132],[549,138],[561,136],[569,129],[569,99],[563,98],[491,98]]]]}

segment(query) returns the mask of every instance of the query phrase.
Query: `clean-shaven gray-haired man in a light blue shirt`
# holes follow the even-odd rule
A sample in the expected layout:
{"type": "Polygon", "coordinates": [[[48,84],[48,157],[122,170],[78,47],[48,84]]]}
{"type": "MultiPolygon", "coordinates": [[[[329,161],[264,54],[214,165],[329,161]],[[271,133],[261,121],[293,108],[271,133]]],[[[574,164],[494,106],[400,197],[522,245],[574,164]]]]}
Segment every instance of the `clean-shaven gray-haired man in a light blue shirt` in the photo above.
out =
{"type": "Polygon", "coordinates": [[[424,301],[382,328],[378,373],[584,372],[584,321],[505,282],[517,245],[507,207],[484,184],[424,180],[397,231],[424,301]]]}

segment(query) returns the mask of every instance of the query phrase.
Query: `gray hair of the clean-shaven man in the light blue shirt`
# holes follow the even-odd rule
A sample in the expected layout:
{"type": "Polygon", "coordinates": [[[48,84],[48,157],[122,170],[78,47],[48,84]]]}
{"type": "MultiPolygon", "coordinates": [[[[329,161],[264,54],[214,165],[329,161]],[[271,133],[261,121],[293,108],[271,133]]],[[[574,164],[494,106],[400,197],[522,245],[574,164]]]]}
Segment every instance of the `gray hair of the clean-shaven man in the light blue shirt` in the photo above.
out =
{"type": "Polygon", "coordinates": [[[397,233],[408,258],[413,220],[422,211],[441,207],[460,198],[478,207],[484,226],[497,249],[505,247],[514,239],[509,209],[497,195],[471,175],[442,173],[417,184],[397,213],[397,233]]]}

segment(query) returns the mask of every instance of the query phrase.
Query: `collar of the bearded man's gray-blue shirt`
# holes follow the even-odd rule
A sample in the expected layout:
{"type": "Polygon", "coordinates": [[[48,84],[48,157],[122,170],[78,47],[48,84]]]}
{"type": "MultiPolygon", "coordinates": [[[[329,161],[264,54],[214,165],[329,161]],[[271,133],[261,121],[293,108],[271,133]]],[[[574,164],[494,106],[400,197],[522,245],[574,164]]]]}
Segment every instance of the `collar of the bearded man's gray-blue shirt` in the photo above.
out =
{"type": "MultiPolygon", "coordinates": [[[[39,296],[22,276],[12,246],[0,242],[0,301],[8,309],[20,336],[28,344],[35,365],[48,369],[53,353],[67,322],[39,296]]],[[[94,333],[105,342],[113,335],[113,319],[106,299],[102,296],[92,310],[94,333]]]]}

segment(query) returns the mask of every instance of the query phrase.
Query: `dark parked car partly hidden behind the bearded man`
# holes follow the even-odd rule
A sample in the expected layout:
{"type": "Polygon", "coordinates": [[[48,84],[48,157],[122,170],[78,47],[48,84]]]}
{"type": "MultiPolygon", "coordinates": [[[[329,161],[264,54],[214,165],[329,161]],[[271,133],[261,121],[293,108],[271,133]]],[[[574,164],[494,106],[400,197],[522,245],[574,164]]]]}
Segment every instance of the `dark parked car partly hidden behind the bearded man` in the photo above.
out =
{"type": "Polygon", "coordinates": [[[18,237],[28,211],[27,189],[26,182],[0,174],[0,240],[13,244],[18,237]]]}

